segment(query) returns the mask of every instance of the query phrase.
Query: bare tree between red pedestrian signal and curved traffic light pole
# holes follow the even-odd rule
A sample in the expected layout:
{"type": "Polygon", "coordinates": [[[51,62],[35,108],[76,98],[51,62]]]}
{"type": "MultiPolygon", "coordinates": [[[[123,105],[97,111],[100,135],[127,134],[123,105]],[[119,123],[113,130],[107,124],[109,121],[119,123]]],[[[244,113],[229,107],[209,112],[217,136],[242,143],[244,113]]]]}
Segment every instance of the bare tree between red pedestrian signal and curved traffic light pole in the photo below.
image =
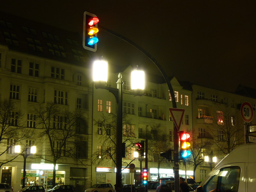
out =
{"type": "Polygon", "coordinates": [[[173,148],[170,139],[160,130],[160,124],[151,124],[151,139],[148,140],[149,154],[153,154],[153,161],[157,163],[157,178],[160,178],[159,169],[162,163],[169,163],[164,157],[160,156],[161,152],[166,152],[173,148]]]}

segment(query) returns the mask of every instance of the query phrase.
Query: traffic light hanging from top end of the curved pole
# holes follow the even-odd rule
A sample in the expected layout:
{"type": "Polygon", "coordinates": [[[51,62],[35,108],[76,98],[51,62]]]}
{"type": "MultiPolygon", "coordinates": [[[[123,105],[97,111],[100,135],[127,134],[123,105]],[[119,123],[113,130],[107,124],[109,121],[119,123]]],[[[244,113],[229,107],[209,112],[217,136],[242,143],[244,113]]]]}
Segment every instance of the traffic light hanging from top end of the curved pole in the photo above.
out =
{"type": "Polygon", "coordinates": [[[97,37],[98,29],[98,17],[90,12],[84,12],[84,24],[83,24],[83,47],[86,50],[96,52],[97,42],[99,41],[97,37]]]}

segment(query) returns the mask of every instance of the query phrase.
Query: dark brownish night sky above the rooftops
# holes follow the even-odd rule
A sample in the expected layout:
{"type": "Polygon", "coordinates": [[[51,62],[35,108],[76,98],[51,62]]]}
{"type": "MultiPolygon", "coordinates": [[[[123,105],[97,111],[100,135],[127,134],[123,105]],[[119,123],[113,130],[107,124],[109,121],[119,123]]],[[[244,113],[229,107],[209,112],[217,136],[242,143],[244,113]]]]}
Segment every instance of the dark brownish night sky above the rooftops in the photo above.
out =
{"type": "MultiPolygon", "coordinates": [[[[256,89],[256,1],[4,1],[0,10],[82,34],[83,12],[150,53],[167,75],[225,91],[256,89]]],[[[116,65],[158,71],[136,48],[100,30],[98,51],[116,65]]]]}

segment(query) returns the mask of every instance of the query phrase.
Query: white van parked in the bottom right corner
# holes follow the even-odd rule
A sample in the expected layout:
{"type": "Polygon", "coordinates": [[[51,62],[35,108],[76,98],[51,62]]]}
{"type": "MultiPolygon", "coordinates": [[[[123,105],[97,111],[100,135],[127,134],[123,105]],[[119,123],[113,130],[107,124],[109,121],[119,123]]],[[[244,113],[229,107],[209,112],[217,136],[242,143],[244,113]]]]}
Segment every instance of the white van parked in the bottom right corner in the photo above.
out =
{"type": "Polygon", "coordinates": [[[207,175],[196,192],[255,192],[256,143],[234,149],[207,175]]]}

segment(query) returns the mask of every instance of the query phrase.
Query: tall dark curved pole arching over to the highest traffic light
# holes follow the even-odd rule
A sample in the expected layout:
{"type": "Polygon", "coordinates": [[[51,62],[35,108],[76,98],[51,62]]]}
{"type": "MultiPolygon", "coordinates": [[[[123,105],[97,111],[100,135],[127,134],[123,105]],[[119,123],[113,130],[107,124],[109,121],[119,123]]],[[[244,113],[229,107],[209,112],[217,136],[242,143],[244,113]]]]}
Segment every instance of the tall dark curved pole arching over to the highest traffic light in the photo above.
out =
{"type": "MultiPolygon", "coordinates": [[[[152,55],[150,55],[148,52],[146,52],[144,49],[142,49],[139,45],[135,44],[134,42],[132,42],[131,40],[127,39],[126,37],[124,36],[121,36],[119,34],[117,34],[116,32],[114,31],[111,31],[105,27],[102,27],[100,25],[98,25],[99,28],[107,31],[108,33],[111,33],[112,35],[114,36],[117,36],[121,39],[123,39],[124,41],[126,41],[127,43],[133,45],[134,47],[136,47],[137,49],[139,49],[142,53],[144,53],[155,65],[156,67],[160,70],[160,72],[162,73],[164,79],[165,79],[165,82],[169,88],[169,92],[171,94],[171,97],[172,97],[172,108],[177,108],[177,105],[176,105],[176,101],[175,101],[175,95],[174,95],[174,91],[173,91],[173,88],[172,88],[172,84],[168,78],[168,76],[166,75],[166,73],[164,72],[164,69],[162,68],[162,66],[160,66],[160,64],[157,62],[157,60],[152,57],[152,55]]],[[[180,181],[179,181],[179,137],[178,137],[178,129],[177,127],[175,126],[175,124],[173,123],[173,160],[174,160],[174,189],[175,189],[175,192],[180,192],[180,181]]]]}

